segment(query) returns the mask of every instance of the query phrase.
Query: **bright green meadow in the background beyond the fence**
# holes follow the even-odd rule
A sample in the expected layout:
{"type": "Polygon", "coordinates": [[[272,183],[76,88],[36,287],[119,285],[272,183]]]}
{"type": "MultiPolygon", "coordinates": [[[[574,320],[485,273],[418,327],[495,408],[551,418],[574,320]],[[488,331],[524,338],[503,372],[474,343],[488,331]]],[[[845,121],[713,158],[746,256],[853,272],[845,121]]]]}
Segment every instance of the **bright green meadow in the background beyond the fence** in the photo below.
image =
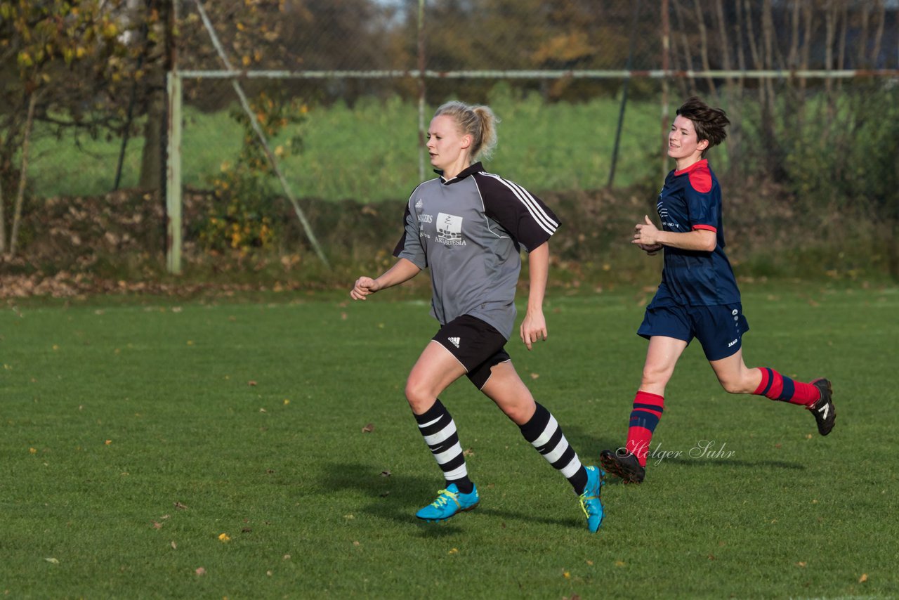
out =
{"type": "MultiPolygon", "coordinates": [[[[537,96],[513,99],[499,88],[491,99],[503,122],[500,144],[487,168],[534,191],[595,189],[608,183],[619,101],[544,103],[537,96]]],[[[427,112],[430,120],[433,107],[427,112]]],[[[661,152],[656,103],[630,103],[624,122],[616,184],[658,178],[661,152]],[[647,150],[646,148],[650,148],[647,150]]],[[[419,181],[418,111],[414,102],[362,100],[352,108],[336,103],[313,107],[299,126],[303,149],[281,165],[298,197],[363,202],[405,200],[419,181]]],[[[271,140],[272,146],[294,135],[271,140]]],[[[243,132],[227,111],[188,109],[182,139],[182,181],[209,188],[224,162],[234,162],[243,132]]],[[[38,129],[30,179],[35,195],[110,192],[120,139],[57,139],[38,129]]],[[[143,139],[129,140],[121,186],[138,184],[143,139]]],[[[432,167],[425,157],[425,174],[432,167]]],[[[280,188],[278,188],[280,193],[280,188]]]]}

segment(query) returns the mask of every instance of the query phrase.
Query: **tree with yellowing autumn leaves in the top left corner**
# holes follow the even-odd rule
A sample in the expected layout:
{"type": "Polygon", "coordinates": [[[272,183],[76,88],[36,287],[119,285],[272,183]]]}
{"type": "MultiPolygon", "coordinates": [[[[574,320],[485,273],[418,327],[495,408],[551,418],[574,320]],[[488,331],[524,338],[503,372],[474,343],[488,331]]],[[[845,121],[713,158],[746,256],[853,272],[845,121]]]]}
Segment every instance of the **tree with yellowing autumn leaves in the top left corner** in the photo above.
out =
{"type": "MultiPolygon", "coordinates": [[[[0,0],[0,185],[18,182],[13,230],[8,247],[15,248],[27,193],[27,147],[34,121],[58,132],[76,130],[97,136],[118,131],[124,114],[123,85],[139,76],[123,35],[127,23],[115,0],[13,2],[0,0]],[[21,164],[14,167],[16,158],[21,164]]],[[[4,194],[4,198],[6,195],[4,194]]],[[[7,200],[9,201],[9,200],[7,200]]],[[[0,228],[6,223],[0,212],[0,228]]],[[[2,239],[2,238],[0,238],[2,239]]],[[[4,242],[6,240],[4,239],[4,242]]],[[[5,249],[5,248],[3,248],[5,249]]]]}

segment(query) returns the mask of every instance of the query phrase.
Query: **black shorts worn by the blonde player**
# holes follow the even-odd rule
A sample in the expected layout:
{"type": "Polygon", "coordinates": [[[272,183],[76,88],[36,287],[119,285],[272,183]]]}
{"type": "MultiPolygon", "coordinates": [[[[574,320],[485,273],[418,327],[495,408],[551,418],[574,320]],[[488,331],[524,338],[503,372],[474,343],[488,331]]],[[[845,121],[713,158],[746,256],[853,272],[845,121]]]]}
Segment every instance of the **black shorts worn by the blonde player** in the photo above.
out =
{"type": "Polygon", "coordinates": [[[449,350],[465,367],[468,379],[478,390],[490,379],[494,364],[512,360],[505,351],[506,338],[479,318],[462,315],[441,327],[432,340],[449,350]]]}

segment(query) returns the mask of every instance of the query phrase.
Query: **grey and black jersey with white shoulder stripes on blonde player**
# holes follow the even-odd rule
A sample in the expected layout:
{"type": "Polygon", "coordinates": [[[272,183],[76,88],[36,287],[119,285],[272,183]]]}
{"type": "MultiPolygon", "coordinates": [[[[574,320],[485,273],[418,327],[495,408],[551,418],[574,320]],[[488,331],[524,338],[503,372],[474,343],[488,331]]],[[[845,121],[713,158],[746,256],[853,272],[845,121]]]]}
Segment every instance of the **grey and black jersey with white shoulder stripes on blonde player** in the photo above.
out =
{"type": "Polygon", "coordinates": [[[432,315],[441,325],[471,315],[509,339],[521,246],[540,246],[558,226],[537,196],[476,163],[415,188],[394,255],[430,270],[432,315]]]}

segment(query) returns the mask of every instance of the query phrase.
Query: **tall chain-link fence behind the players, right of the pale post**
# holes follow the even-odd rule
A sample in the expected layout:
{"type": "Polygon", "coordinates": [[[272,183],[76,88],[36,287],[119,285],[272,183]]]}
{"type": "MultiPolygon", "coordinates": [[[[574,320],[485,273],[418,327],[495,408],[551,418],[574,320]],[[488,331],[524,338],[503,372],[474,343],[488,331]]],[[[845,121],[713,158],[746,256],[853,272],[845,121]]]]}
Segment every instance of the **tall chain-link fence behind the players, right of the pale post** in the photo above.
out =
{"type": "Polygon", "coordinates": [[[809,146],[816,123],[855,157],[871,126],[840,136],[835,115],[899,102],[896,0],[180,0],[175,13],[175,147],[193,164],[169,192],[203,187],[253,136],[223,141],[210,114],[242,98],[254,121],[252,99],[300,98],[302,148],[281,160],[283,136],[265,143],[304,226],[297,198],[405,200],[450,98],[494,107],[505,125],[488,167],[539,192],[657,184],[673,109],[699,94],[732,116],[719,172],[816,193],[797,162],[833,148],[809,146]]]}

